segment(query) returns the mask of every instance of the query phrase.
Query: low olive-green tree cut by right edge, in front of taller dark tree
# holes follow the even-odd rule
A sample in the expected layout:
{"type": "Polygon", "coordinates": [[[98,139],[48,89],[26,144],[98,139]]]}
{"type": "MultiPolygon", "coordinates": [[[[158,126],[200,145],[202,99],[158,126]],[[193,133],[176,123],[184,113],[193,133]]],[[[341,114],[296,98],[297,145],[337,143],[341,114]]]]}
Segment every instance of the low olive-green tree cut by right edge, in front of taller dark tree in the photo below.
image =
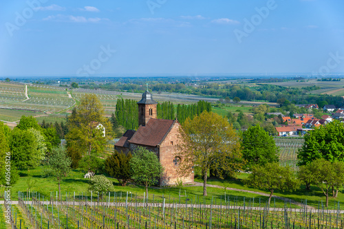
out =
{"type": "MultiPolygon", "coordinates": [[[[306,184],[318,186],[326,197],[327,207],[330,188],[336,187],[336,193],[338,193],[338,189],[343,187],[343,170],[343,162],[334,162],[332,164],[322,158],[301,166],[299,170],[299,179],[306,184]]],[[[336,194],[334,194],[334,196],[336,196],[336,194]]]]}

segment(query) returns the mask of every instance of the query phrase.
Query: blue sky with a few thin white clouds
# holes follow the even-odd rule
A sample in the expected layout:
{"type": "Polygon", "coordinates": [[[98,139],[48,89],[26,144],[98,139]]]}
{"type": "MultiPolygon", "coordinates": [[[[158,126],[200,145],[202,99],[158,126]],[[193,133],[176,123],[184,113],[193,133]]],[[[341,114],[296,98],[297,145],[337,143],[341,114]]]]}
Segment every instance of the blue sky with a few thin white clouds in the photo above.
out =
{"type": "Polygon", "coordinates": [[[0,4],[0,76],[344,72],[343,0],[0,4]]]}

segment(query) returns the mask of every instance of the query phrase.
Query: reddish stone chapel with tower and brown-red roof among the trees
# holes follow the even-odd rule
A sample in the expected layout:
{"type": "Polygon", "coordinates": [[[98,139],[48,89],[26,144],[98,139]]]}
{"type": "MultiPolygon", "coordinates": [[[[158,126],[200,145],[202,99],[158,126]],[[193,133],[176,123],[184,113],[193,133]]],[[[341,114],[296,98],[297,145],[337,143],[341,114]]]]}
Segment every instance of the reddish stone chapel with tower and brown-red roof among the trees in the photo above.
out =
{"type": "Polygon", "coordinates": [[[175,185],[179,180],[183,184],[193,184],[193,173],[186,177],[180,177],[177,171],[179,162],[182,160],[181,157],[178,157],[178,143],[181,141],[178,135],[181,125],[178,120],[158,119],[157,104],[158,102],[153,100],[149,91],[142,94],[142,99],[138,102],[140,127],[137,131],[125,132],[114,145],[115,150],[127,153],[142,146],[155,152],[164,167],[164,175],[159,180],[160,186],[175,185]]]}

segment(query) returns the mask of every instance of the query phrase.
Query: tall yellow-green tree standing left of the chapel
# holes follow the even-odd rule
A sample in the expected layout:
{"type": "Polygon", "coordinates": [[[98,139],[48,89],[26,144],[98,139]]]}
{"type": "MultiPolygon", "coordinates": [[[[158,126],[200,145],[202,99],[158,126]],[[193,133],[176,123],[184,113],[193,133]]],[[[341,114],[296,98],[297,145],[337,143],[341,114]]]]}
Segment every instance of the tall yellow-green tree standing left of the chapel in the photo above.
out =
{"type": "Polygon", "coordinates": [[[82,154],[103,152],[105,144],[111,139],[109,131],[111,124],[104,117],[104,109],[94,94],[86,94],[80,100],[80,104],[73,109],[72,115],[68,118],[69,133],[67,133],[67,142],[69,146],[76,147],[82,154]],[[103,136],[103,128],[105,127],[106,135],[103,136]]]}

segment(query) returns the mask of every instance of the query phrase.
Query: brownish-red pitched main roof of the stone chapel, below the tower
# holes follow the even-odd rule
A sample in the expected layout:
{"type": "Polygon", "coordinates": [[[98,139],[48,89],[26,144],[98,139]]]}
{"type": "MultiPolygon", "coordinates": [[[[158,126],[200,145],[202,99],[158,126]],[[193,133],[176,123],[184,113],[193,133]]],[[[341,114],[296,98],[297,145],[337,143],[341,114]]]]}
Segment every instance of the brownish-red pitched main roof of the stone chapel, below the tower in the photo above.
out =
{"type": "Polygon", "coordinates": [[[131,138],[130,143],[157,146],[164,140],[175,122],[178,121],[151,118],[146,126],[140,126],[131,138]]]}

